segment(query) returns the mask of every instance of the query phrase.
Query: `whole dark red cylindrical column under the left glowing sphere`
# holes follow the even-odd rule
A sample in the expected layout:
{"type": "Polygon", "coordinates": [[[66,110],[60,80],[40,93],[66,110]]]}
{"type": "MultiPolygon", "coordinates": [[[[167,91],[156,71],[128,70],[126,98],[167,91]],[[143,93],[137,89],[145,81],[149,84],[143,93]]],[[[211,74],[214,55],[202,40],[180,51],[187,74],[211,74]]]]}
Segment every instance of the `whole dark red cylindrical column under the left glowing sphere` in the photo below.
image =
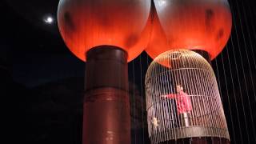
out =
{"type": "Polygon", "coordinates": [[[83,144],[130,144],[126,52],[98,46],[86,58],[83,144]]]}

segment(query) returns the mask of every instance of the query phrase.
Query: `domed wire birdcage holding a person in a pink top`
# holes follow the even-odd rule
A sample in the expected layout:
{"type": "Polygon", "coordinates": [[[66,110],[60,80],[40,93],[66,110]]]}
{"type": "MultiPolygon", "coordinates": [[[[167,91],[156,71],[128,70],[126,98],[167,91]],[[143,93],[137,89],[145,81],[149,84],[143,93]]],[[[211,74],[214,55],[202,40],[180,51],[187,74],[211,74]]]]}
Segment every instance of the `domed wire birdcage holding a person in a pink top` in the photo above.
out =
{"type": "Polygon", "coordinates": [[[170,50],[154,59],[146,73],[146,109],[152,143],[230,140],[214,71],[194,51],[170,50]]]}

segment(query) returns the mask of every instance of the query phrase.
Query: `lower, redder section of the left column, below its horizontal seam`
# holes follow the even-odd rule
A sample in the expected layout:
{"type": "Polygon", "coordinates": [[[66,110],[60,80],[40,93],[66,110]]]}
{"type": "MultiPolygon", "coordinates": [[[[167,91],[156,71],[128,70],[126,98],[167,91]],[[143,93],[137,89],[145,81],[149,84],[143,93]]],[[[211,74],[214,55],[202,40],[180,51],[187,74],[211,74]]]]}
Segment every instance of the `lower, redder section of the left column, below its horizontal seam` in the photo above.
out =
{"type": "Polygon", "coordinates": [[[86,92],[83,144],[130,144],[128,93],[114,88],[86,92]]]}

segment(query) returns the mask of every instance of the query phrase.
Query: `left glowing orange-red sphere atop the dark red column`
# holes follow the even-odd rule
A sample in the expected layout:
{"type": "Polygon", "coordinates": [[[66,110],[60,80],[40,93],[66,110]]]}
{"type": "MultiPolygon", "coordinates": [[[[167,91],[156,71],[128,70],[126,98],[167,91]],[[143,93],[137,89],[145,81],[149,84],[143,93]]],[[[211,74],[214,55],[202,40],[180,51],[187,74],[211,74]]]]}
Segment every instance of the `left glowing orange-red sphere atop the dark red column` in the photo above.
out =
{"type": "Polygon", "coordinates": [[[58,27],[69,49],[86,61],[95,46],[118,46],[136,58],[146,47],[150,0],[61,0],[58,27]]]}

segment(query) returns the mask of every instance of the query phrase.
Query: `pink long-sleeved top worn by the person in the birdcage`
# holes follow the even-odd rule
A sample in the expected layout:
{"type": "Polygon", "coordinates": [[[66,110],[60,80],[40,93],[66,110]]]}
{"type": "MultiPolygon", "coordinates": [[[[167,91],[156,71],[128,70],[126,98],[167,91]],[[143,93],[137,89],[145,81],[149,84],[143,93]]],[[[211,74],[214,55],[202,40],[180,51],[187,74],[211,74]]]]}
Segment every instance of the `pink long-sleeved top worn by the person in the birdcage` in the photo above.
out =
{"type": "Polygon", "coordinates": [[[162,97],[165,98],[176,98],[178,114],[190,112],[192,110],[192,104],[190,96],[185,92],[181,91],[179,94],[167,94],[162,97]]]}

